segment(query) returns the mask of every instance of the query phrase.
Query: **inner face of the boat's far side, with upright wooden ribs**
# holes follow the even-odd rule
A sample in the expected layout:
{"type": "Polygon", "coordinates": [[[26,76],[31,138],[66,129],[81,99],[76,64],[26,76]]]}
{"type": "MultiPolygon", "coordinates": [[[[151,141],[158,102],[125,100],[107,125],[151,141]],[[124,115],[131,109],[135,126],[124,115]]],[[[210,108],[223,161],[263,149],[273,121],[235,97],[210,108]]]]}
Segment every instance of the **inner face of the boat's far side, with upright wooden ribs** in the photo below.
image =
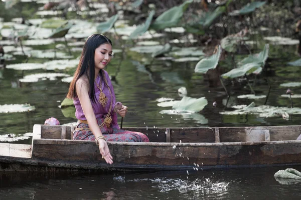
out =
{"type": "MultiPolygon", "coordinates": [[[[71,128],[66,126],[41,125],[41,138],[70,139],[71,128]],[[62,134],[63,132],[63,134],[62,134]],[[66,132],[66,134],[64,134],[66,132]],[[66,135],[66,136],[65,136],[66,135]]],[[[124,128],[143,132],[152,142],[239,142],[295,140],[301,133],[301,126],[254,126],[254,127],[193,127],[193,128],[124,128]],[[218,132],[217,129],[218,128],[218,132]]]]}

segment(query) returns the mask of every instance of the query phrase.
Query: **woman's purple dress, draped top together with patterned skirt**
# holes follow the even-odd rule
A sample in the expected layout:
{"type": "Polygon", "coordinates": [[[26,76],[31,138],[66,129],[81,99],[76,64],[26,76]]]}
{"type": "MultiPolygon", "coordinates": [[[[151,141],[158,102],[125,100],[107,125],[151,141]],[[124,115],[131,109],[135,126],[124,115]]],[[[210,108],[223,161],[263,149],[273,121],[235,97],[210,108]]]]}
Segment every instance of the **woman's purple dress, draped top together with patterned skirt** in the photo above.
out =
{"type": "MultiPolygon", "coordinates": [[[[149,139],[147,136],[141,132],[133,132],[129,130],[122,130],[119,128],[118,122],[117,122],[117,113],[114,112],[114,106],[116,102],[116,97],[114,93],[114,88],[111,83],[109,74],[107,71],[103,70],[103,76],[105,76],[107,80],[107,84],[111,90],[112,93],[112,108],[111,108],[111,118],[112,122],[109,126],[106,124],[103,125],[103,127],[100,127],[100,131],[103,134],[103,136],[106,138],[107,141],[127,141],[127,142],[133,142],[133,141],[140,141],[140,142],[148,142],[149,139]]],[[[106,95],[107,97],[107,103],[105,107],[101,105],[101,103],[98,102],[99,99],[99,94],[100,90],[97,87],[96,83],[94,83],[94,89],[95,89],[95,95],[96,95],[96,100],[95,102],[91,100],[91,104],[93,107],[94,114],[96,116],[98,125],[100,125],[106,116],[106,114],[109,111],[110,104],[111,104],[111,94],[108,89],[108,87],[105,84],[105,81],[101,78],[101,76],[98,74],[95,81],[97,82],[98,86],[101,85],[102,92],[106,95]],[[101,84],[100,84],[101,81],[101,84]]],[[[75,116],[77,119],[80,120],[87,120],[87,118],[84,115],[83,109],[81,107],[80,101],[78,98],[73,99],[76,111],[75,111],[75,116]]],[[[80,139],[80,140],[95,140],[95,136],[93,135],[91,130],[87,130],[89,128],[89,125],[85,122],[78,121],[78,124],[76,126],[76,129],[73,132],[73,139],[80,139]],[[82,130],[84,128],[85,130],[82,130]]]]}

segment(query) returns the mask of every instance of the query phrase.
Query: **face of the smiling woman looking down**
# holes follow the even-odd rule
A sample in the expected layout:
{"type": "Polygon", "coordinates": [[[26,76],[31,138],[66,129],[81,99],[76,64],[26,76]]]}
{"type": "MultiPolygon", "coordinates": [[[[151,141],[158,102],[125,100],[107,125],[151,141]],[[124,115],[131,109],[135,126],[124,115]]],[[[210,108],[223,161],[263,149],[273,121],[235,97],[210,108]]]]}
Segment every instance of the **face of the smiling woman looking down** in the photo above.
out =
{"type": "Polygon", "coordinates": [[[103,69],[110,62],[112,52],[112,45],[110,43],[99,45],[94,53],[95,68],[103,69]]]}

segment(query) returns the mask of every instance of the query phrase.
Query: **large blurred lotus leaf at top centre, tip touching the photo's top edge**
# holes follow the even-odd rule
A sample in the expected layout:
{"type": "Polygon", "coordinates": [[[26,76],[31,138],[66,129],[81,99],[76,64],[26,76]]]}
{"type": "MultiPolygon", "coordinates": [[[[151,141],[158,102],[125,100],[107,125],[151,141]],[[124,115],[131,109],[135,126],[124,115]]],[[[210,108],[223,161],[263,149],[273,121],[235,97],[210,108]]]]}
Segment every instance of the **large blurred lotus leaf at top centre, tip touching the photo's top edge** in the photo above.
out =
{"type": "Polygon", "coordinates": [[[154,29],[164,29],[177,26],[183,16],[184,11],[192,1],[193,0],[187,0],[179,6],[174,6],[166,10],[156,18],[150,27],[154,29]]]}

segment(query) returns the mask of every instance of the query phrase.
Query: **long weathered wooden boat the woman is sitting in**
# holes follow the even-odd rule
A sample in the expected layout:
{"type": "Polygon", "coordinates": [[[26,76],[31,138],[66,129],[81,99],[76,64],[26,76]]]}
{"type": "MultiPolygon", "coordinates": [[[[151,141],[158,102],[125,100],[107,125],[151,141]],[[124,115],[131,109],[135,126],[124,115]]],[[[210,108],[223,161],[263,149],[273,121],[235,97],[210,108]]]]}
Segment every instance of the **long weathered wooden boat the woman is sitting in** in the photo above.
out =
{"type": "Polygon", "coordinates": [[[32,144],[0,143],[0,171],[157,170],[301,164],[301,126],[125,128],[150,142],[71,140],[73,126],[35,124],[32,144]]]}

